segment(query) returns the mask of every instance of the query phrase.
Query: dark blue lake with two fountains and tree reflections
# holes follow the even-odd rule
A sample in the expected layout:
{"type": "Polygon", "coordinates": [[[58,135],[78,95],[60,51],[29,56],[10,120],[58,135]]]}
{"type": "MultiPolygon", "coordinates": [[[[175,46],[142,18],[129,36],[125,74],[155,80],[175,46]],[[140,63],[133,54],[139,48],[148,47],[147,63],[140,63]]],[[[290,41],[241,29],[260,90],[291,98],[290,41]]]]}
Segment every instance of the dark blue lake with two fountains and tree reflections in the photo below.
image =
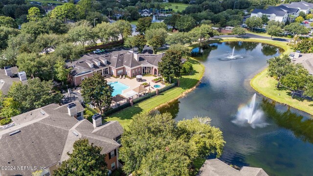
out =
{"type": "Polygon", "coordinates": [[[211,124],[223,132],[226,144],[220,159],[227,164],[260,167],[270,176],[313,175],[311,115],[272,102],[249,85],[267,60],[282,50],[268,44],[229,42],[193,51],[205,66],[201,84],[159,112],[170,112],[176,120],[210,117],[211,124]],[[254,93],[253,113],[258,112],[260,121],[238,123],[254,93]]]}

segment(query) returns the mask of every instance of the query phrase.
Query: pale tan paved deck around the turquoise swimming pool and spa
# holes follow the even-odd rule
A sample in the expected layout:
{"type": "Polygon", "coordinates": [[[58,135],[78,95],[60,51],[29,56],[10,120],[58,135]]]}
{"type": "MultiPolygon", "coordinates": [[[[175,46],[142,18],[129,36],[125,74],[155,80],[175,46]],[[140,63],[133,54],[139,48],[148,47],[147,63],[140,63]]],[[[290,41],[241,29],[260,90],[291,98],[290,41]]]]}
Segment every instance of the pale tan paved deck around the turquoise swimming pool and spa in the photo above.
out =
{"type": "MultiPolygon", "coordinates": [[[[156,79],[157,77],[154,77],[154,76],[143,76],[142,77],[142,82],[138,82],[136,80],[136,78],[133,78],[133,79],[129,79],[129,78],[125,78],[125,79],[120,79],[120,78],[114,78],[114,77],[110,77],[110,78],[106,78],[106,80],[108,82],[115,82],[115,81],[118,81],[120,83],[123,83],[124,85],[128,86],[129,88],[126,88],[122,91],[122,94],[126,93],[126,92],[129,92],[131,90],[133,90],[134,88],[137,88],[139,87],[142,83],[150,83],[150,90],[151,91],[155,91],[156,88],[154,88],[153,86],[154,85],[159,85],[161,86],[160,88],[164,88],[165,85],[163,85],[161,82],[158,82],[158,83],[153,83],[152,80],[156,79]]],[[[159,88],[159,89],[160,89],[159,88]]],[[[149,87],[146,87],[147,90],[149,90],[149,87]]]]}

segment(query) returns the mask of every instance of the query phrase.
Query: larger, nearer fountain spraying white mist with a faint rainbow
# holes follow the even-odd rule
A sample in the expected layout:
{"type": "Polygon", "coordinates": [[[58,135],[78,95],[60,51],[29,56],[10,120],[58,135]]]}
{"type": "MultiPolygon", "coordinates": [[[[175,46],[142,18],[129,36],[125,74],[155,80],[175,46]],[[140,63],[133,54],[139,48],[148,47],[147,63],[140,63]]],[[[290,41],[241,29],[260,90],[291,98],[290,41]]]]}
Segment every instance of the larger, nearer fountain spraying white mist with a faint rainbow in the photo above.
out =
{"type": "Polygon", "coordinates": [[[246,124],[249,124],[252,128],[262,128],[267,125],[267,123],[263,119],[263,111],[260,109],[256,109],[255,99],[256,94],[254,93],[250,103],[248,105],[241,106],[238,109],[236,119],[232,121],[233,123],[241,126],[246,126],[246,124]]]}

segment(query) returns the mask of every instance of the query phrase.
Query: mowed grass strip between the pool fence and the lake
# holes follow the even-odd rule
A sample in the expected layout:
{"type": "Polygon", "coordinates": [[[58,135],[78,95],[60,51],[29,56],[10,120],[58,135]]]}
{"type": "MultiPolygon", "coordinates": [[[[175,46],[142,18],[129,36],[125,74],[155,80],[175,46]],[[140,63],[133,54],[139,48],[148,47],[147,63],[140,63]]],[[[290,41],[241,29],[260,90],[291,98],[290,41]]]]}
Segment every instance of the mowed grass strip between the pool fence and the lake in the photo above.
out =
{"type": "Polygon", "coordinates": [[[194,70],[189,75],[183,75],[182,78],[179,78],[180,87],[172,88],[153,98],[135,104],[133,107],[116,112],[106,117],[105,121],[117,120],[123,128],[127,128],[135,114],[149,112],[161,104],[178,98],[186,90],[196,86],[198,81],[201,80],[203,76],[204,66],[194,59],[191,59],[190,62],[192,62],[194,70]]]}

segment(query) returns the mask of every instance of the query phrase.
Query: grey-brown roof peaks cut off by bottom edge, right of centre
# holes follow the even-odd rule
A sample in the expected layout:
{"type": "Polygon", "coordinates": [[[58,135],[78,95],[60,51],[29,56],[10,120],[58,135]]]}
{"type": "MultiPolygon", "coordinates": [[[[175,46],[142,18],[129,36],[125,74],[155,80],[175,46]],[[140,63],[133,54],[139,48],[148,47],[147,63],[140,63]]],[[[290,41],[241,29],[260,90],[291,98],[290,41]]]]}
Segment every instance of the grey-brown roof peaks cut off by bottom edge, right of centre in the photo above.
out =
{"type": "Polygon", "coordinates": [[[205,160],[197,176],[268,176],[268,174],[262,168],[246,166],[238,171],[215,158],[205,160]]]}

